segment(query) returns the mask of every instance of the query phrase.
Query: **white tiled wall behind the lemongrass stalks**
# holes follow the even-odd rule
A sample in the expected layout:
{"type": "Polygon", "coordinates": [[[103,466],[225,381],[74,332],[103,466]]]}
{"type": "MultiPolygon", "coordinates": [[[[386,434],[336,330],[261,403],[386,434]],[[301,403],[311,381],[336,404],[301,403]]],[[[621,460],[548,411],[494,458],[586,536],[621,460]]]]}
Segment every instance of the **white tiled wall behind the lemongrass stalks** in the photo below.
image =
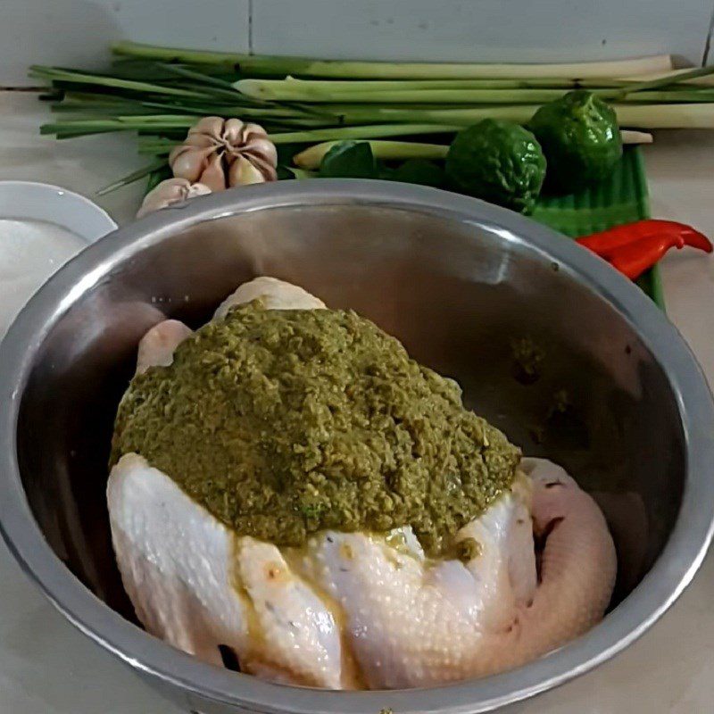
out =
{"type": "Polygon", "coordinates": [[[699,64],[714,0],[0,0],[0,86],[33,62],[100,67],[112,40],[271,54],[699,64]]]}

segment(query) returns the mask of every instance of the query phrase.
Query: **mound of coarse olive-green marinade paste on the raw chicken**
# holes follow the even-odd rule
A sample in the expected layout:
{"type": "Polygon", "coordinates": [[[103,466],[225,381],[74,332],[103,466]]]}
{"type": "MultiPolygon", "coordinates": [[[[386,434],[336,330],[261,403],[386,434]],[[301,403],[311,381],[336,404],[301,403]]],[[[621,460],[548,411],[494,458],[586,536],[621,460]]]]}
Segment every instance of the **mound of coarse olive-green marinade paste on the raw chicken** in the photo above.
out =
{"type": "Polygon", "coordinates": [[[239,535],[411,525],[436,555],[511,486],[519,450],[451,379],[353,311],[234,308],[133,379],[112,463],[137,452],[239,535]]]}

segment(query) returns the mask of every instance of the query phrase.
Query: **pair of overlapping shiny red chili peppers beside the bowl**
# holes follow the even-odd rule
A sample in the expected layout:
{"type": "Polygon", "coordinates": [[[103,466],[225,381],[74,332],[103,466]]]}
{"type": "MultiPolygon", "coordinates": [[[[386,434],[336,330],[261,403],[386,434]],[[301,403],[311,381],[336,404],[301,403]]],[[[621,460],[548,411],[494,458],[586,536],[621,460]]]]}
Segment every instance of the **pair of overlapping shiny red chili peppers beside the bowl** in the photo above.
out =
{"type": "Polygon", "coordinates": [[[706,253],[714,250],[709,238],[673,220],[638,220],[578,238],[577,243],[633,280],[660,261],[669,248],[691,245],[706,253]]]}

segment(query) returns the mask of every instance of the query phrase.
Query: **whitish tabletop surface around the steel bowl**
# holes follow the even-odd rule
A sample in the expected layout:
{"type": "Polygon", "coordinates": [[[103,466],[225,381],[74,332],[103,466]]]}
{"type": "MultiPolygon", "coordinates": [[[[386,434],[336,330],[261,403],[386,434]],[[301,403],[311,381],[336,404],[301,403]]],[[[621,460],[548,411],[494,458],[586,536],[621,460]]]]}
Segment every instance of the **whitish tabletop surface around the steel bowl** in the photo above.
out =
{"type": "MultiPolygon", "coordinates": [[[[143,165],[131,137],[57,142],[39,137],[46,109],[34,95],[0,93],[0,179],[59,184],[90,198],[143,165]]],[[[714,236],[714,132],[660,134],[646,148],[655,216],[714,236]]],[[[141,186],[95,198],[119,223],[141,186]]],[[[714,259],[674,253],[663,262],[668,315],[714,378],[714,259]]],[[[0,497],[2,495],[0,494],[0,497]]],[[[714,556],[675,606],[619,657],[512,710],[518,714],[699,714],[714,710],[714,556]]],[[[129,670],[71,627],[0,544],[2,714],[178,714],[129,670]]]]}

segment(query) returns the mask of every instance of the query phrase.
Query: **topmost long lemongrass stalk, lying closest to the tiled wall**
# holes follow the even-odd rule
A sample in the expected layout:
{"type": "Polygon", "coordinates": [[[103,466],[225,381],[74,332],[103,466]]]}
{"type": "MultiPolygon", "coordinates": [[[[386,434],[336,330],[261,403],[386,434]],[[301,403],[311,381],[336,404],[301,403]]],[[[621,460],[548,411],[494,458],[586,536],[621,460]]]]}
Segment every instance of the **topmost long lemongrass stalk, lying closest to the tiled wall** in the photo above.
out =
{"type": "Polygon", "coordinates": [[[203,52],[175,47],[156,47],[120,42],[114,54],[164,62],[219,64],[255,76],[298,75],[353,79],[519,79],[519,78],[619,78],[672,69],[668,54],[615,62],[571,62],[562,64],[484,64],[469,62],[343,62],[305,57],[276,57],[261,54],[203,52]]]}

